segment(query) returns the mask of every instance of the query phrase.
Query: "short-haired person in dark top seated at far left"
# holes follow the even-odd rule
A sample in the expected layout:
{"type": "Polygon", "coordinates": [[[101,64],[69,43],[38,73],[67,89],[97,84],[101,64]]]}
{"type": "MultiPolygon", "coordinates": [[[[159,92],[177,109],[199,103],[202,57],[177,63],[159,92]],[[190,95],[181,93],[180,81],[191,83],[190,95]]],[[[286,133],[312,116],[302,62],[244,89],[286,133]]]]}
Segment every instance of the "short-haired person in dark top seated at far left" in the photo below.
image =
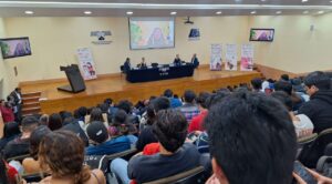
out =
{"type": "Polygon", "coordinates": [[[6,159],[29,154],[30,135],[39,125],[38,119],[34,116],[27,116],[22,120],[21,131],[22,135],[10,141],[3,149],[6,159]]]}

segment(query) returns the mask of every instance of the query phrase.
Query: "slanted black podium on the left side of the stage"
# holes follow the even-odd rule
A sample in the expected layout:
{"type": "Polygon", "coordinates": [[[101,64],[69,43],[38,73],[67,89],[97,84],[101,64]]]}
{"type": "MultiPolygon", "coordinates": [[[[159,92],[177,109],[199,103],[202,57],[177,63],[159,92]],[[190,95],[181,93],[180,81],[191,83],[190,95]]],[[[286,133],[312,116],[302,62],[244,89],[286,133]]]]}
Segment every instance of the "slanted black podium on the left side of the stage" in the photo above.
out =
{"type": "Polygon", "coordinates": [[[64,71],[70,85],[59,86],[59,91],[65,91],[70,93],[79,93],[85,91],[85,83],[81,75],[77,64],[71,64],[68,67],[60,67],[60,71],[64,71]]]}

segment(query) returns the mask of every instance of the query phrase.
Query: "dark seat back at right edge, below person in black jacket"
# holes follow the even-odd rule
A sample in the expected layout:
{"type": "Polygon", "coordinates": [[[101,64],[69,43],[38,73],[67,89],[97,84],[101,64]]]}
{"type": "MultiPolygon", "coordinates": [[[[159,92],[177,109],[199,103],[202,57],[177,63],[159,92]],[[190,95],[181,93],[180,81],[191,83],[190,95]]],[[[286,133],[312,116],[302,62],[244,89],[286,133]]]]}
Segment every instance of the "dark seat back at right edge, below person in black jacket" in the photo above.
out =
{"type": "Polygon", "coordinates": [[[298,160],[307,167],[314,168],[318,160],[324,155],[324,150],[332,142],[332,129],[318,134],[312,144],[303,146],[298,160]]]}

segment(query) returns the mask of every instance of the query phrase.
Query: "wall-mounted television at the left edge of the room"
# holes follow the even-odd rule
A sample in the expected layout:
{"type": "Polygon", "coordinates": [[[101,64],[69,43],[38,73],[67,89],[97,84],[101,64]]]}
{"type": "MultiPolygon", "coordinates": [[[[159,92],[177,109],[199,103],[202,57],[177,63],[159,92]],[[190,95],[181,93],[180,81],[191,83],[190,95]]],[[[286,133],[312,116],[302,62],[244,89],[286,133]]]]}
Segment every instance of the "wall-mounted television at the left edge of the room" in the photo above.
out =
{"type": "Polygon", "coordinates": [[[28,37],[0,39],[0,48],[3,59],[31,55],[28,37]]]}

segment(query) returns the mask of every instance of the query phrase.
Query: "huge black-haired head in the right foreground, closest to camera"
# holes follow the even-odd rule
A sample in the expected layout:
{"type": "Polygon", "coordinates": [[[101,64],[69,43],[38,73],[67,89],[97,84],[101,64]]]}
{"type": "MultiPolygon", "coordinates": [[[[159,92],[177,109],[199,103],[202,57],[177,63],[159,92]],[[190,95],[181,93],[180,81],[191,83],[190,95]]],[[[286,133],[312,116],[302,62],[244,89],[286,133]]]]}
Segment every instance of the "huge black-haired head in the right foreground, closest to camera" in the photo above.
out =
{"type": "Polygon", "coordinates": [[[210,109],[205,126],[212,165],[219,168],[215,174],[228,183],[291,183],[297,136],[279,101],[260,93],[235,93],[210,109]]]}

